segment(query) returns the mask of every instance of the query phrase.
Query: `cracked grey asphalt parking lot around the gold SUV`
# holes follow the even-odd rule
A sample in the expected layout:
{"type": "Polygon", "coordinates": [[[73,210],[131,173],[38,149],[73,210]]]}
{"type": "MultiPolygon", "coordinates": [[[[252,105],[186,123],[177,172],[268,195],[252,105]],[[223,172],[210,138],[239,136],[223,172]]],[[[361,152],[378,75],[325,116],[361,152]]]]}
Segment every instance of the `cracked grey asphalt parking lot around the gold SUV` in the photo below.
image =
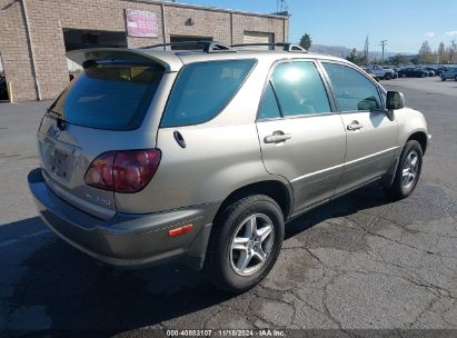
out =
{"type": "Polygon", "coordinates": [[[27,188],[49,102],[0,103],[0,332],[457,329],[457,82],[381,84],[425,112],[434,136],[415,193],[389,202],[367,187],[295,220],[270,275],[236,297],[178,266],[100,267],[58,239],[27,188]]]}

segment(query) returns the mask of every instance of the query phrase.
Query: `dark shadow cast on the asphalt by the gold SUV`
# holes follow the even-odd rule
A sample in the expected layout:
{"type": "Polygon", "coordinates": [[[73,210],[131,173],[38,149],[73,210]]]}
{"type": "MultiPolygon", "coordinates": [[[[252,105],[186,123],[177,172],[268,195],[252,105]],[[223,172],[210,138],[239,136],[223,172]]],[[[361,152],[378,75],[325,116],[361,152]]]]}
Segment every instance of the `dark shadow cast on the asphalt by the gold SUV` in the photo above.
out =
{"type": "MultiPolygon", "coordinates": [[[[328,218],[386,203],[379,190],[368,187],[315,209],[292,221],[286,237],[294,237],[328,218]]],[[[107,329],[97,332],[100,337],[153,326],[234,297],[208,285],[199,274],[178,266],[122,271],[96,265],[51,232],[41,239],[20,240],[43,229],[39,218],[0,226],[0,255],[10,257],[9,264],[1,267],[2,274],[14,275],[14,269],[24,268],[16,281],[11,281],[9,297],[0,299],[7,304],[10,317],[18,308],[38,305],[50,319],[49,329],[107,329]],[[41,242],[37,243],[38,240],[41,242]],[[1,247],[1,242],[8,241],[9,246],[1,247]],[[19,255],[14,252],[27,250],[26,257],[14,262],[13,257],[19,255]]],[[[9,329],[21,328],[21,321],[18,327],[18,321],[11,318],[7,321],[9,329]]]]}

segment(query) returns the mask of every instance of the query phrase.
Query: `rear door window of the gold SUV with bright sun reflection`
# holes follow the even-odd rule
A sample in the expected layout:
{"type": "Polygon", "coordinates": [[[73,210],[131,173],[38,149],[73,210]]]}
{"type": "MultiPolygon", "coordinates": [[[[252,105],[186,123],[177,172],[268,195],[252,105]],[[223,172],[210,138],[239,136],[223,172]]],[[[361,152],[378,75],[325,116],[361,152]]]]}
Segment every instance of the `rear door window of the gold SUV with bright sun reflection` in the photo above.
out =
{"type": "Polygon", "coordinates": [[[326,88],[314,62],[279,63],[272,71],[271,83],[282,117],[331,111],[326,88]]]}

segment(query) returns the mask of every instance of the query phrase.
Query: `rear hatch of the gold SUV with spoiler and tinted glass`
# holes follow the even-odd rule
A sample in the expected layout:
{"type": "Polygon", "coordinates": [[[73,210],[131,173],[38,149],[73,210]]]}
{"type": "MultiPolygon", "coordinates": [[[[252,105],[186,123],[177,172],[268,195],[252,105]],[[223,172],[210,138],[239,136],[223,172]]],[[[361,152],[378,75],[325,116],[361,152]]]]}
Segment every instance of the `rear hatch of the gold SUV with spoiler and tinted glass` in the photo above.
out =
{"type": "Polygon", "coordinates": [[[74,53],[74,59],[79,58],[83,71],[49,107],[40,125],[39,156],[46,182],[56,195],[108,219],[117,210],[115,192],[88,186],[86,172],[108,151],[156,146],[157,128],[150,128],[146,117],[167,67],[133,51],[81,53],[74,53]]]}

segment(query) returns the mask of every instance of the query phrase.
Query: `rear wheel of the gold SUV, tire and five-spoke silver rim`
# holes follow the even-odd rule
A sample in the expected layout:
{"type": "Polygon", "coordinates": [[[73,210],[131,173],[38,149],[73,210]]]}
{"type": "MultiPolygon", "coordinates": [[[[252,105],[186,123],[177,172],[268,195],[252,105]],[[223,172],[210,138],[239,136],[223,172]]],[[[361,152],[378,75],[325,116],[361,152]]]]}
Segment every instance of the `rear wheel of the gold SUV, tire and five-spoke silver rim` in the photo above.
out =
{"type": "Polygon", "coordinates": [[[244,292],[256,286],[268,275],[279,256],[284,227],[281,209],[267,196],[245,197],[228,206],[220,217],[217,217],[212,228],[205,261],[205,275],[208,280],[218,288],[234,294],[244,292]],[[268,233],[265,235],[264,241],[257,243],[252,238],[259,239],[261,235],[256,233],[257,231],[249,235],[248,231],[252,218],[257,221],[257,230],[271,227],[270,232],[264,230],[264,233],[268,233]],[[234,249],[235,238],[239,240],[238,249],[234,249]],[[254,255],[249,256],[248,252],[254,255]],[[259,259],[259,252],[265,254],[264,261],[259,259]],[[244,257],[247,259],[244,260],[244,257]],[[242,261],[247,260],[248,265],[244,268],[242,261]]]}

